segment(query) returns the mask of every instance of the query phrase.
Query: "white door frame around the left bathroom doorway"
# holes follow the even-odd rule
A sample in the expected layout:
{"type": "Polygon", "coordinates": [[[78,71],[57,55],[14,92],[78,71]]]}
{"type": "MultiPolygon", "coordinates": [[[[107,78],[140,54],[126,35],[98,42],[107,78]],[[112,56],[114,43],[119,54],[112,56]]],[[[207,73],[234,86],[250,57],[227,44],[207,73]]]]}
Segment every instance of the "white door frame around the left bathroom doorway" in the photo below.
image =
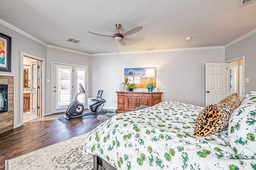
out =
{"type": "MultiPolygon", "coordinates": [[[[41,67],[41,73],[42,73],[42,116],[45,116],[45,77],[44,77],[44,71],[45,71],[45,59],[38,57],[36,55],[32,55],[30,53],[26,53],[23,51],[20,51],[20,94],[23,94],[23,57],[30,57],[32,59],[40,60],[42,61],[42,67],[41,67]]],[[[20,123],[23,125],[23,95],[20,95],[20,123]]]]}

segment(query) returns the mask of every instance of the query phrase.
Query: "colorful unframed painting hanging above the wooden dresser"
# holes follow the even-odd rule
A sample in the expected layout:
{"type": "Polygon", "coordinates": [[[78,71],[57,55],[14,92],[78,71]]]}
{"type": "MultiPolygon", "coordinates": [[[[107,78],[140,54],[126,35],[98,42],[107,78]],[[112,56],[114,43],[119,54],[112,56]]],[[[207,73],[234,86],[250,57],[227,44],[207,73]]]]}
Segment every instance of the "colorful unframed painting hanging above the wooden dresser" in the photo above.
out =
{"type": "Polygon", "coordinates": [[[156,87],[156,67],[145,68],[125,68],[124,69],[124,84],[136,84],[137,88],[147,88],[148,83],[151,82],[156,87]],[[147,77],[146,70],[153,71],[153,75],[147,77]]]}

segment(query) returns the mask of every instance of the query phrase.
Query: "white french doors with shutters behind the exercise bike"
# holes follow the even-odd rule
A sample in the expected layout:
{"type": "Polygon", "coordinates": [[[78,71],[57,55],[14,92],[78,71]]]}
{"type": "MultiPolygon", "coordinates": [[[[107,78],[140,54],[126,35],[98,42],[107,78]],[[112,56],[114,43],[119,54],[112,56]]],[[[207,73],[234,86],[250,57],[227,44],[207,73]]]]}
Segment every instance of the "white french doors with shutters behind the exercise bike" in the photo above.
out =
{"type": "MultiPolygon", "coordinates": [[[[80,92],[79,83],[86,89],[87,67],[54,63],[53,69],[53,113],[60,113],[80,92]]],[[[86,105],[86,95],[78,95],[78,101],[86,105]]]]}

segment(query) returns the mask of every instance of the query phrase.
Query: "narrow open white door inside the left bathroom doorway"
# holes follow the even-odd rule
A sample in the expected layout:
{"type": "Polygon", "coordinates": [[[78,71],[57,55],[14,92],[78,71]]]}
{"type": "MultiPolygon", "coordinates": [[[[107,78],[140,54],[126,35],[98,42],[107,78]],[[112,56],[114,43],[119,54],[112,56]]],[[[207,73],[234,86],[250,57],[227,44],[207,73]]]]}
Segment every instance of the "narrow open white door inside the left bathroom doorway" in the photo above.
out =
{"type": "Polygon", "coordinates": [[[30,113],[31,116],[38,116],[38,61],[32,61],[30,65],[32,74],[30,74],[30,113]]]}

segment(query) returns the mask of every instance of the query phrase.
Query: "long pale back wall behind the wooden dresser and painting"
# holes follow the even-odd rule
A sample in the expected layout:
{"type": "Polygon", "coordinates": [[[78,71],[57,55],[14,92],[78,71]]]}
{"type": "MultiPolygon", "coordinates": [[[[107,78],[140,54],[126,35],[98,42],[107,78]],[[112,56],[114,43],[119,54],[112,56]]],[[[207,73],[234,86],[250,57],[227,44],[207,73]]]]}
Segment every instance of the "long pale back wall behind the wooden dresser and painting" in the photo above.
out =
{"type": "MultiPolygon", "coordinates": [[[[224,62],[224,48],[92,56],[92,94],[104,90],[104,108],[116,109],[124,68],[156,67],[162,101],[205,105],[205,63],[224,62]]],[[[140,89],[137,89],[140,90],[140,89]]]]}

